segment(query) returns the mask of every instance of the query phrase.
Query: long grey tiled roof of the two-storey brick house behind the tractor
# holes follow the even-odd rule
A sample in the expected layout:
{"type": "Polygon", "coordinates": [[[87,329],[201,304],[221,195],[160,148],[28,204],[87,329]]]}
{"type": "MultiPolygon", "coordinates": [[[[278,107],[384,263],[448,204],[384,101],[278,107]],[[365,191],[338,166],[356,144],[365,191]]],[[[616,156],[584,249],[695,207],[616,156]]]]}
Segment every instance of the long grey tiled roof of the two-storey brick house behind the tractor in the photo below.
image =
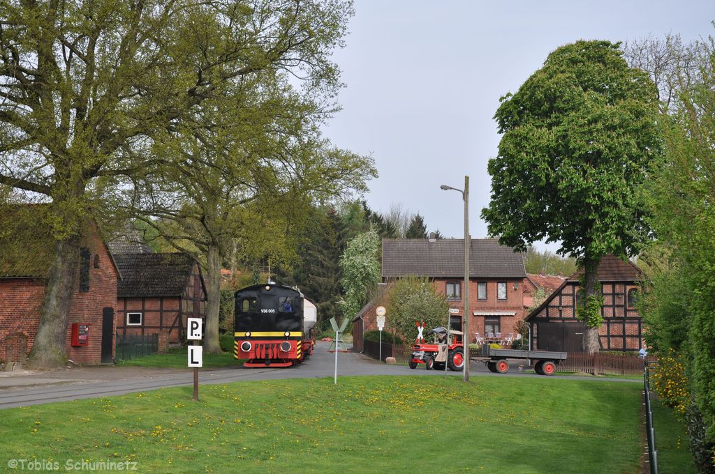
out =
{"type": "MultiPolygon", "coordinates": [[[[464,239],[383,239],[383,276],[464,276],[464,239]]],[[[524,278],[521,252],[502,246],[495,238],[473,238],[469,248],[470,278],[524,278]]]]}

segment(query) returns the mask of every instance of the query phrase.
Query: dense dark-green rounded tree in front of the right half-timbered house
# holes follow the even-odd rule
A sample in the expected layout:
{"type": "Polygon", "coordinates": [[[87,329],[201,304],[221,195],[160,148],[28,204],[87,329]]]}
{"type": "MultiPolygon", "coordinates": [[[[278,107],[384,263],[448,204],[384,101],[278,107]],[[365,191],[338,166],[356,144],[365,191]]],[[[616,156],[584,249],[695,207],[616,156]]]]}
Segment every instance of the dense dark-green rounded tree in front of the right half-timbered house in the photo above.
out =
{"type": "Polygon", "coordinates": [[[588,353],[599,347],[598,263],[633,255],[647,234],[638,188],[660,153],[657,112],[653,81],[617,44],[578,41],[549,54],[495,114],[503,136],[482,216],[502,243],[524,251],[546,239],[577,258],[588,353]]]}

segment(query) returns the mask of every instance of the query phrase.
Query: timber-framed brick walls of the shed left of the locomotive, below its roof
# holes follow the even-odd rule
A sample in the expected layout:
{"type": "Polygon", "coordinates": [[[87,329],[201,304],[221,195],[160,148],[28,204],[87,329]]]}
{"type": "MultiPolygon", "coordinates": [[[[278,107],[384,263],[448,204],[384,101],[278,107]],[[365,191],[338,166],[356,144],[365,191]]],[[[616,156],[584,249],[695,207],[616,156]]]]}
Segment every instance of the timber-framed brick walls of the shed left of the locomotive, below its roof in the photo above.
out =
{"type": "Polygon", "coordinates": [[[199,267],[194,264],[194,270],[189,276],[182,296],[119,298],[117,333],[144,336],[165,330],[170,344],[182,343],[186,340],[187,318],[204,317],[205,299],[199,267]],[[140,313],[141,323],[128,324],[129,313],[140,313]]]}

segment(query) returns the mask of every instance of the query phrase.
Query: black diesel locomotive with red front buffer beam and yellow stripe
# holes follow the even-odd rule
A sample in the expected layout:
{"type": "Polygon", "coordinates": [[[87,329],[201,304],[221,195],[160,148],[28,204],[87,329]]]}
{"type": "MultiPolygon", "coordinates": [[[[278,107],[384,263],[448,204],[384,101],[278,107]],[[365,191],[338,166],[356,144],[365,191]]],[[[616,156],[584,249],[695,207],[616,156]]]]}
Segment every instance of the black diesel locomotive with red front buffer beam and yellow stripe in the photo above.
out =
{"type": "Polygon", "coordinates": [[[244,367],[289,367],[312,354],[315,305],[296,288],[265,283],[234,294],[234,356],[244,367]]]}

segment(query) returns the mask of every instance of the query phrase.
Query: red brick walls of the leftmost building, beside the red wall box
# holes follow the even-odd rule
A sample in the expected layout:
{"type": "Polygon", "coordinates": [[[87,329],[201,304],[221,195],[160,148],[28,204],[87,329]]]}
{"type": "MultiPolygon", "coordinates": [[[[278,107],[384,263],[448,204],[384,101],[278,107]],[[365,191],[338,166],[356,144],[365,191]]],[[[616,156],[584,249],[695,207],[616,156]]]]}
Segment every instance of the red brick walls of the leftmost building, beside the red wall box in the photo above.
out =
{"type": "MultiPolygon", "coordinates": [[[[117,302],[117,269],[107,246],[94,229],[92,236],[85,238],[82,246],[89,251],[89,291],[79,291],[78,275],[75,278],[76,289],[72,294],[67,326],[67,358],[74,363],[98,364],[102,361],[102,311],[107,307],[114,308],[117,302]],[[72,323],[89,324],[87,346],[71,346],[72,323]]],[[[19,356],[16,349],[21,344],[18,333],[26,337],[26,351],[31,350],[39,326],[45,284],[44,278],[0,278],[0,360],[19,356]]]]}

